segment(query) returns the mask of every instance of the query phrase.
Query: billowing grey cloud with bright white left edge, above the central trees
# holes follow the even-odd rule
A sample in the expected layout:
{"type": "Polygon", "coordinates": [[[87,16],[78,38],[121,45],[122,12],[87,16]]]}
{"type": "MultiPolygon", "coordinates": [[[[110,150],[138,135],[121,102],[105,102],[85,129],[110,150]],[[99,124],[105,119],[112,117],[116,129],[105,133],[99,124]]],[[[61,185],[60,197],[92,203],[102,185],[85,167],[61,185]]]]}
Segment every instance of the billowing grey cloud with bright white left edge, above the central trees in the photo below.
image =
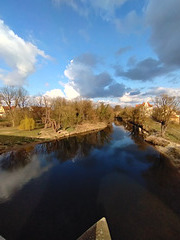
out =
{"type": "Polygon", "coordinates": [[[71,60],[64,71],[68,86],[87,98],[122,96],[126,91],[123,84],[116,82],[106,71],[95,73],[97,59],[92,54],[84,54],[71,60]]]}

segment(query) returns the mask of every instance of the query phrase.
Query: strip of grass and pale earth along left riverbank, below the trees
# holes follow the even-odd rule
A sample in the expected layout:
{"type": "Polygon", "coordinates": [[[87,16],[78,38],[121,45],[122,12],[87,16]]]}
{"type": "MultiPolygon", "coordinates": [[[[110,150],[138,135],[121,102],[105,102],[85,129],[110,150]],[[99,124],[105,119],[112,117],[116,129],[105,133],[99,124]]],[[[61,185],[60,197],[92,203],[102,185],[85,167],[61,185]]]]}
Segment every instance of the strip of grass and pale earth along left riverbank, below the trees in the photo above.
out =
{"type": "Polygon", "coordinates": [[[84,123],[82,125],[77,125],[75,128],[60,130],[58,132],[55,132],[50,128],[36,129],[33,131],[20,131],[16,128],[10,127],[2,128],[0,129],[0,154],[24,147],[31,148],[34,147],[34,145],[43,142],[100,131],[106,127],[106,123],[98,122],[96,124],[84,123]]]}

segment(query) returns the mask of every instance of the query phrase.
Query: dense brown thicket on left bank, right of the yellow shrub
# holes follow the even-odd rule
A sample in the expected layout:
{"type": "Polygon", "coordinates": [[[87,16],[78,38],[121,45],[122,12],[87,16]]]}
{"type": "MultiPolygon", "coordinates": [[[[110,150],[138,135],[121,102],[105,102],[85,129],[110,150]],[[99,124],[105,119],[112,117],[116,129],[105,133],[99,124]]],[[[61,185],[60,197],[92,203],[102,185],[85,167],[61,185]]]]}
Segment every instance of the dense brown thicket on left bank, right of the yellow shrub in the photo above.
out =
{"type": "Polygon", "coordinates": [[[67,129],[83,122],[106,122],[113,120],[113,109],[103,103],[94,104],[90,100],[69,101],[64,98],[47,99],[43,97],[45,104],[46,127],[52,127],[55,131],[60,128],[67,129]]]}

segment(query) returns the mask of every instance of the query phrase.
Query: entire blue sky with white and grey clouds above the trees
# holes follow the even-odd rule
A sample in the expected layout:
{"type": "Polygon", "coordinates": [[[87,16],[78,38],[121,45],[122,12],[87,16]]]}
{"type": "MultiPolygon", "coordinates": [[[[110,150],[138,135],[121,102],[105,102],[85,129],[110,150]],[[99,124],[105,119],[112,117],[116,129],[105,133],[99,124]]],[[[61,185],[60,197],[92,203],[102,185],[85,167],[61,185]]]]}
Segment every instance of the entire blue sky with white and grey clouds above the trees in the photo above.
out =
{"type": "Polygon", "coordinates": [[[0,1],[0,87],[134,105],[180,96],[179,0],[0,1]]]}

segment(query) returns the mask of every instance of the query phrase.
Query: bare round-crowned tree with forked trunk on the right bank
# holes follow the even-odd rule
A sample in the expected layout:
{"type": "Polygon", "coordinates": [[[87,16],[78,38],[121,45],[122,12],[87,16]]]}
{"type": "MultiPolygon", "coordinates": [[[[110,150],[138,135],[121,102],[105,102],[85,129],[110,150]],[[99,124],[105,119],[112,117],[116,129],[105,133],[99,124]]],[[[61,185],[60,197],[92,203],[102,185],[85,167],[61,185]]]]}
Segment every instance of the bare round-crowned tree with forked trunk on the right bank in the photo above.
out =
{"type": "Polygon", "coordinates": [[[163,94],[154,100],[153,119],[161,124],[161,136],[164,137],[171,116],[176,112],[179,98],[163,94]]]}

